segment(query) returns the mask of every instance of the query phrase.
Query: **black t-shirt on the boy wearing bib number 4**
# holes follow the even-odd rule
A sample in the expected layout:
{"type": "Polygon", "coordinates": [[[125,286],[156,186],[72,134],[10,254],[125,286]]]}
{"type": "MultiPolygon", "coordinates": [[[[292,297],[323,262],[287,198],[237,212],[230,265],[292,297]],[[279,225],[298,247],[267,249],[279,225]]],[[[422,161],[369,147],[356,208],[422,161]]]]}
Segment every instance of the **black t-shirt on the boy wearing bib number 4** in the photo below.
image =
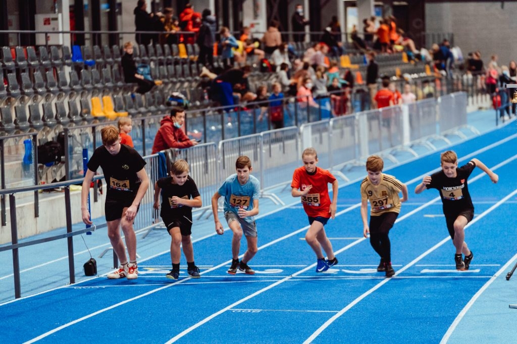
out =
{"type": "Polygon", "coordinates": [[[443,170],[431,175],[431,183],[428,189],[436,189],[440,192],[444,214],[455,214],[466,209],[474,210],[472,199],[468,193],[467,178],[470,176],[476,164],[470,161],[468,164],[456,168],[457,176],[449,178],[443,170]]]}

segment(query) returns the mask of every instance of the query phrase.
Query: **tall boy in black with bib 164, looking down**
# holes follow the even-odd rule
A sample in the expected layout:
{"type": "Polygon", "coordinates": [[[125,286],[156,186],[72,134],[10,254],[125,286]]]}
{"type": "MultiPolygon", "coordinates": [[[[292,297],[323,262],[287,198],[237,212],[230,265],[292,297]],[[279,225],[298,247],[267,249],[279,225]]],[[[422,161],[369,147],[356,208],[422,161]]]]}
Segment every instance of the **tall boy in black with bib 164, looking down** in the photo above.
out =
{"type": "Polygon", "coordinates": [[[144,167],[146,162],[133,148],[120,144],[120,136],[115,126],[102,128],[101,139],[102,146],[94,151],[87,164],[81,189],[81,215],[85,224],[93,224],[87,202],[90,184],[100,166],[108,184],[105,202],[108,238],[120,261],[118,270],[109,273],[108,278],[135,279],[138,278],[138,264],[133,221],[149,186],[149,178],[144,167]],[[120,236],[120,228],[124,232],[129,261],[120,236]]]}

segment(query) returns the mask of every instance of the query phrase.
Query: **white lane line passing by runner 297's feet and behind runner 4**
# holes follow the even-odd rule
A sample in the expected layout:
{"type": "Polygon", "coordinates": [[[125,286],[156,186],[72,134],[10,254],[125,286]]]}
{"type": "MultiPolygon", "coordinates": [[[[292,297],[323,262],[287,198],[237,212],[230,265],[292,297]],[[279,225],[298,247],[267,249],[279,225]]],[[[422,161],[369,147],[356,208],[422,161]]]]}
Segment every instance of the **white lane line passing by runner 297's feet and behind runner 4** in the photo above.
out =
{"type": "MultiPolygon", "coordinates": [[[[513,157],[511,160],[517,158],[516,157],[513,157]]],[[[510,159],[508,159],[510,160],[510,159]]],[[[502,166],[502,165],[501,165],[502,166]]],[[[495,167],[494,167],[495,169],[495,167]]],[[[501,204],[503,204],[506,200],[510,199],[511,197],[513,197],[515,194],[517,194],[517,190],[514,190],[513,192],[511,192],[510,194],[506,195],[504,198],[502,198],[501,200],[499,200],[497,202],[497,204],[493,205],[492,207],[490,207],[489,209],[485,210],[484,212],[482,212],[478,217],[474,218],[471,222],[469,222],[465,228],[467,227],[470,227],[471,225],[475,224],[477,221],[479,221],[481,218],[483,218],[484,216],[486,216],[487,214],[491,213],[494,209],[498,208],[501,204]]],[[[405,267],[403,267],[402,269],[400,269],[399,271],[397,271],[397,273],[395,274],[395,276],[399,275],[401,272],[404,272],[405,270],[409,269],[410,267],[412,267],[416,262],[418,262],[419,260],[421,260],[423,257],[429,255],[430,253],[432,253],[436,248],[442,246],[443,244],[445,244],[447,241],[450,240],[450,237],[446,237],[445,239],[443,239],[442,241],[440,241],[439,243],[437,243],[436,245],[434,245],[433,247],[431,247],[430,249],[428,249],[427,251],[425,251],[424,253],[422,253],[420,256],[418,256],[417,258],[415,258],[413,261],[409,262],[407,265],[405,265],[405,267]]],[[[319,329],[317,329],[309,338],[307,338],[304,343],[310,343],[312,342],[318,335],[320,335],[331,323],[333,323],[335,320],[337,320],[339,317],[341,317],[343,314],[345,314],[346,311],[348,311],[349,309],[351,309],[352,307],[354,307],[357,303],[359,303],[361,300],[363,300],[364,298],[366,298],[367,296],[369,296],[370,294],[372,294],[375,290],[381,288],[384,284],[388,283],[390,279],[385,279],[383,280],[381,283],[377,284],[376,286],[374,286],[373,288],[371,288],[370,290],[368,290],[367,292],[363,293],[361,296],[359,296],[359,298],[357,298],[356,300],[354,300],[352,303],[348,304],[345,308],[343,308],[338,314],[334,315],[333,317],[331,317],[330,319],[328,319],[323,325],[320,326],[319,329]]]]}

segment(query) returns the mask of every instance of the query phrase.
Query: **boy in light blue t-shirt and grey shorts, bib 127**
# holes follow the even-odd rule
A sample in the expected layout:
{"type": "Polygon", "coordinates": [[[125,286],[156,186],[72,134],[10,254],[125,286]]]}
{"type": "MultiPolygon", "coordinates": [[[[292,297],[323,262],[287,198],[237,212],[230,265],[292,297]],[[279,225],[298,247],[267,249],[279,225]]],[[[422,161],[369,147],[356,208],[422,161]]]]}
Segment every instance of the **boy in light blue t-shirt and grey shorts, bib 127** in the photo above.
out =
{"type": "Polygon", "coordinates": [[[216,232],[222,235],[224,229],[219,221],[217,201],[219,197],[224,196],[224,217],[233,232],[232,265],[227,272],[235,275],[238,268],[246,274],[253,275],[255,271],[248,266],[248,262],[257,252],[255,215],[258,214],[260,183],[258,179],[250,175],[253,169],[250,158],[244,155],[237,158],[235,168],[237,173],[226,178],[219,190],[212,196],[212,213],[214,213],[216,232]],[[248,249],[239,262],[242,233],[246,236],[248,249]]]}

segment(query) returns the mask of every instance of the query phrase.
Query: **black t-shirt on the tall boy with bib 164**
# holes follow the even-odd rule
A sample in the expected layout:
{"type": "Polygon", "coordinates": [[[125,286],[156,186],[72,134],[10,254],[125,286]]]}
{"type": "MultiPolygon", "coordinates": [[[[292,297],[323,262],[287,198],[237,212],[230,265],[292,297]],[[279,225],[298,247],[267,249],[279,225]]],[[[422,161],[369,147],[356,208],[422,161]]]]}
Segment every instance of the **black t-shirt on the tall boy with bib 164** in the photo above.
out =
{"type": "Polygon", "coordinates": [[[145,160],[136,150],[120,145],[120,151],[116,155],[111,155],[104,146],[98,147],[87,166],[94,172],[100,166],[108,185],[106,197],[121,199],[136,195],[141,184],[136,173],[144,168],[145,164],[145,160]]]}

